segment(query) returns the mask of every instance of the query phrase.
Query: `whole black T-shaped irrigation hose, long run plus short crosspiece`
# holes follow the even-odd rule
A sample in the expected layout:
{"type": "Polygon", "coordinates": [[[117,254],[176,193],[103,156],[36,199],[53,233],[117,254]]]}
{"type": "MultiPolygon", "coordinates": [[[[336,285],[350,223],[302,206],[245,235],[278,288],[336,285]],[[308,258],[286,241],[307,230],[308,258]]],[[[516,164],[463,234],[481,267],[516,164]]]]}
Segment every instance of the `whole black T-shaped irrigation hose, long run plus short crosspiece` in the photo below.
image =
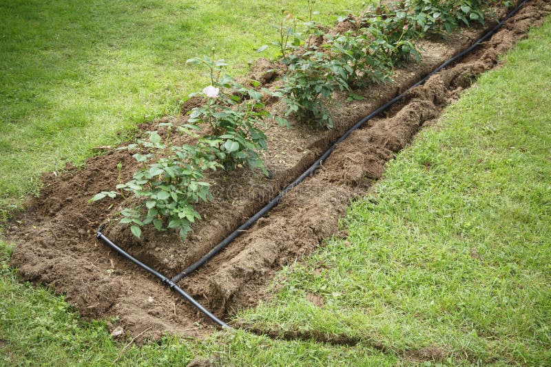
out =
{"type": "Polygon", "coordinates": [[[295,179],[295,181],[290,183],[289,186],[285,187],[280,192],[280,194],[278,194],[278,196],[271,199],[271,201],[269,203],[264,205],[264,207],[262,209],[260,209],[256,214],[251,216],[251,218],[249,218],[249,220],[247,220],[245,223],[240,225],[240,227],[238,227],[237,230],[231,232],[231,234],[229,234],[229,236],[224,238],[224,240],[222,240],[222,242],[220,242],[218,245],[216,245],[216,247],[211,249],[211,251],[209,251],[207,254],[205,254],[205,256],[202,256],[202,258],[197,260],[192,265],[189,265],[189,267],[185,268],[184,271],[180,272],[179,274],[177,274],[173,278],[171,278],[171,279],[167,278],[166,276],[164,276],[163,274],[160,274],[155,269],[152,269],[152,267],[149,267],[149,266],[145,265],[140,260],[137,260],[136,258],[131,256],[130,254],[125,252],[123,249],[121,249],[121,247],[118,247],[117,245],[115,245],[112,241],[110,241],[109,238],[107,238],[107,236],[105,236],[105,234],[102,233],[103,228],[105,227],[105,225],[101,225],[101,227],[98,228],[98,230],[96,232],[96,238],[98,238],[98,240],[100,240],[100,241],[103,241],[103,243],[105,243],[106,245],[108,245],[109,247],[114,249],[115,252],[117,252],[118,254],[120,254],[121,256],[126,258],[127,260],[132,261],[132,263],[138,265],[138,267],[141,267],[145,271],[149,272],[150,274],[152,274],[153,276],[158,278],[158,280],[160,280],[161,284],[165,285],[166,287],[169,287],[172,291],[180,294],[180,296],[183,296],[183,298],[185,298],[189,303],[194,305],[194,307],[199,309],[199,311],[204,313],[209,319],[214,321],[216,324],[218,324],[219,326],[222,326],[222,328],[224,328],[224,329],[231,329],[230,326],[228,326],[225,322],[218,319],[215,315],[213,315],[211,312],[209,312],[207,309],[205,309],[205,307],[202,307],[202,305],[199,302],[197,302],[193,297],[189,296],[189,294],[187,294],[185,291],[183,291],[183,289],[178,287],[178,285],[176,285],[176,282],[182,280],[182,278],[184,278],[185,276],[188,276],[189,274],[191,274],[193,271],[198,269],[198,267],[200,267],[200,266],[204,265],[205,263],[207,263],[208,260],[210,260],[211,258],[216,256],[216,254],[218,254],[218,252],[220,252],[227,245],[229,245],[234,239],[236,239],[238,236],[240,236],[240,234],[242,234],[242,232],[244,232],[249,227],[251,227],[251,225],[256,223],[256,221],[258,221],[258,219],[260,219],[262,216],[264,216],[264,214],[269,212],[269,210],[271,210],[273,207],[275,207],[275,205],[278,205],[278,203],[281,201],[281,199],[284,197],[284,195],[287,194],[287,192],[289,192],[290,190],[295,188],[295,186],[298,186],[298,184],[301,183],[302,181],[304,181],[304,179],[306,179],[306,177],[309,177],[310,175],[313,174],[313,172],[315,170],[320,168],[320,166],[322,166],[322,162],[324,162],[324,160],[327,159],[327,157],[329,157],[329,155],[331,155],[331,153],[333,153],[335,148],[337,148],[337,146],[341,142],[343,142],[347,137],[349,137],[349,135],[353,131],[359,129],[366,122],[368,122],[369,120],[371,120],[375,116],[379,115],[380,113],[382,113],[383,111],[385,111],[389,107],[393,106],[393,104],[395,104],[399,100],[402,100],[402,98],[404,98],[404,96],[406,95],[406,93],[408,91],[410,91],[411,89],[413,89],[415,87],[419,87],[419,85],[423,85],[424,82],[426,82],[428,80],[428,78],[430,78],[431,76],[437,74],[439,71],[441,71],[442,69],[444,69],[448,65],[450,65],[452,63],[455,63],[455,61],[459,60],[460,58],[464,57],[466,54],[471,52],[473,49],[477,48],[481,43],[483,43],[488,38],[490,38],[493,34],[495,34],[495,32],[497,32],[497,30],[499,30],[499,28],[501,28],[503,26],[503,24],[506,21],[508,21],[508,19],[510,19],[511,16],[513,16],[514,14],[517,14],[517,12],[519,12],[519,10],[521,10],[521,8],[523,8],[523,6],[526,5],[527,2],[528,2],[528,0],[521,1],[509,14],[507,14],[507,16],[505,16],[505,18],[503,18],[501,21],[499,21],[499,23],[497,23],[497,25],[495,25],[495,27],[493,27],[491,30],[486,32],[486,34],[484,34],[484,36],[479,38],[470,47],[468,47],[467,49],[464,49],[464,51],[462,51],[462,52],[459,52],[459,54],[453,56],[452,58],[447,60],[445,63],[441,64],[439,67],[434,69],[430,74],[428,74],[427,76],[425,76],[424,78],[419,80],[419,82],[416,82],[413,86],[406,89],[406,91],[399,94],[399,96],[397,96],[397,97],[393,98],[392,100],[386,102],[381,107],[379,107],[378,109],[376,109],[375,111],[373,111],[372,113],[367,115],[366,117],[362,118],[362,120],[358,121],[354,126],[352,126],[348,131],[346,131],[346,133],[344,133],[335,143],[333,143],[333,145],[329,149],[327,149],[327,151],[320,158],[318,158],[318,160],[315,161],[306,171],[304,171],[304,173],[302,173],[302,175],[300,175],[300,177],[298,177],[297,179],[295,179]]]}

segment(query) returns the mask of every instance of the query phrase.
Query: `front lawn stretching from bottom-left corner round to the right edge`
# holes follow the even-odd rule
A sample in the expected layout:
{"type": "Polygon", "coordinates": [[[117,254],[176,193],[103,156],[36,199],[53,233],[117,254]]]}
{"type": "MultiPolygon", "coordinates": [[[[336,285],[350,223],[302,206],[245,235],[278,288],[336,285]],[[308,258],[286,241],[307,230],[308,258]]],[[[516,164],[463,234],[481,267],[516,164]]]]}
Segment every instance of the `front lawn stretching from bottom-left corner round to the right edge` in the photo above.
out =
{"type": "MultiPolygon", "coordinates": [[[[395,366],[435,346],[444,365],[551,364],[551,21],[479,78],[388,164],[331,239],[284,269],[278,296],[236,317],[266,331],[358,343],[272,340],[242,330],[129,346],[123,365],[395,366]],[[325,300],[323,308],[307,293],[325,300]]],[[[125,344],[63,298],[0,277],[0,361],[111,364],[125,344]]],[[[426,362],[426,365],[435,364],[426,362]]],[[[438,364],[436,364],[438,365],[438,364]]]]}

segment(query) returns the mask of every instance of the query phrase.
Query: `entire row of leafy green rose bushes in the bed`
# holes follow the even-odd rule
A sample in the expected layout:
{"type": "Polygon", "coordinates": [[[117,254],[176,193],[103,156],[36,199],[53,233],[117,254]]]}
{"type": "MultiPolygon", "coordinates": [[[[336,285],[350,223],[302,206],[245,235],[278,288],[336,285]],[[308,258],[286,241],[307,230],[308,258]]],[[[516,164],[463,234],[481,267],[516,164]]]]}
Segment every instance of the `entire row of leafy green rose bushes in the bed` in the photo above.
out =
{"type": "MultiPolygon", "coordinates": [[[[181,238],[191,230],[191,223],[200,219],[193,205],[211,199],[209,183],[202,181],[207,170],[233,170],[240,164],[260,168],[267,174],[259,151],[267,147],[262,131],[265,118],[273,118],[264,105],[264,95],[277,96],[289,107],[287,115],[295,113],[299,120],[315,119],[320,126],[333,127],[327,105],[333,91],[350,90],[365,82],[381,82],[395,66],[416,58],[419,51],[413,41],[426,32],[451,32],[459,22],[484,24],[488,3],[481,0],[406,0],[393,8],[380,5],[371,8],[355,23],[353,30],[337,36],[324,34],[311,22],[315,0],[309,1],[310,22],[306,35],[323,37],[329,43],[322,47],[304,45],[305,38],[297,32],[298,18],[283,12],[277,27],[282,63],[287,67],[283,85],[278,91],[262,89],[262,93],[240,85],[222,74],[227,66],[223,60],[208,57],[192,58],[188,63],[209,69],[211,85],[190,96],[203,96],[207,102],[192,109],[187,124],[167,126],[167,137],[149,133],[147,140],[127,146],[136,151],[133,157],[142,167],[127,183],[119,183],[117,191],[103,191],[91,201],[118,194],[131,193],[134,208],[121,211],[121,223],[132,223],[131,231],[141,236],[141,226],[152,223],[157,230],[175,229],[181,238]],[[207,124],[210,133],[200,136],[194,131],[207,124]],[[173,144],[176,132],[180,144],[173,144]],[[181,144],[183,135],[197,139],[194,145],[181,144]]],[[[504,1],[508,5],[509,1],[504,1]]],[[[253,82],[253,87],[258,84],[253,82]]],[[[287,120],[275,118],[282,126],[287,120]]],[[[120,168],[118,168],[120,171],[120,168]]],[[[126,197],[125,197],[126,198],[126,197]]]]}

